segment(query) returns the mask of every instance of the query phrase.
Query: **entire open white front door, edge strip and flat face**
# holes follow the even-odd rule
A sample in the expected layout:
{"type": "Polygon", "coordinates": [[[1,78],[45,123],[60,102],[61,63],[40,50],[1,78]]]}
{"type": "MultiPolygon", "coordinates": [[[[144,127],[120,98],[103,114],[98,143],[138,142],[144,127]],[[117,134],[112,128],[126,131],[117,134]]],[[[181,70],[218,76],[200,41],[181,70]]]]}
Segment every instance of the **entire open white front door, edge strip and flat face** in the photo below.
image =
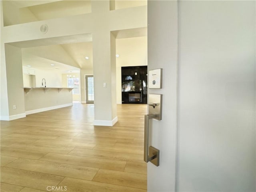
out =
{"type": "Polygon", "coordinates": [[[163,94],[162,121],[150,122],[160,166],[148,163],[148,191],[255,191],[255,9],[148,1],[148,70],[163,69],[162,89],[148,90],[163,94]]]}

